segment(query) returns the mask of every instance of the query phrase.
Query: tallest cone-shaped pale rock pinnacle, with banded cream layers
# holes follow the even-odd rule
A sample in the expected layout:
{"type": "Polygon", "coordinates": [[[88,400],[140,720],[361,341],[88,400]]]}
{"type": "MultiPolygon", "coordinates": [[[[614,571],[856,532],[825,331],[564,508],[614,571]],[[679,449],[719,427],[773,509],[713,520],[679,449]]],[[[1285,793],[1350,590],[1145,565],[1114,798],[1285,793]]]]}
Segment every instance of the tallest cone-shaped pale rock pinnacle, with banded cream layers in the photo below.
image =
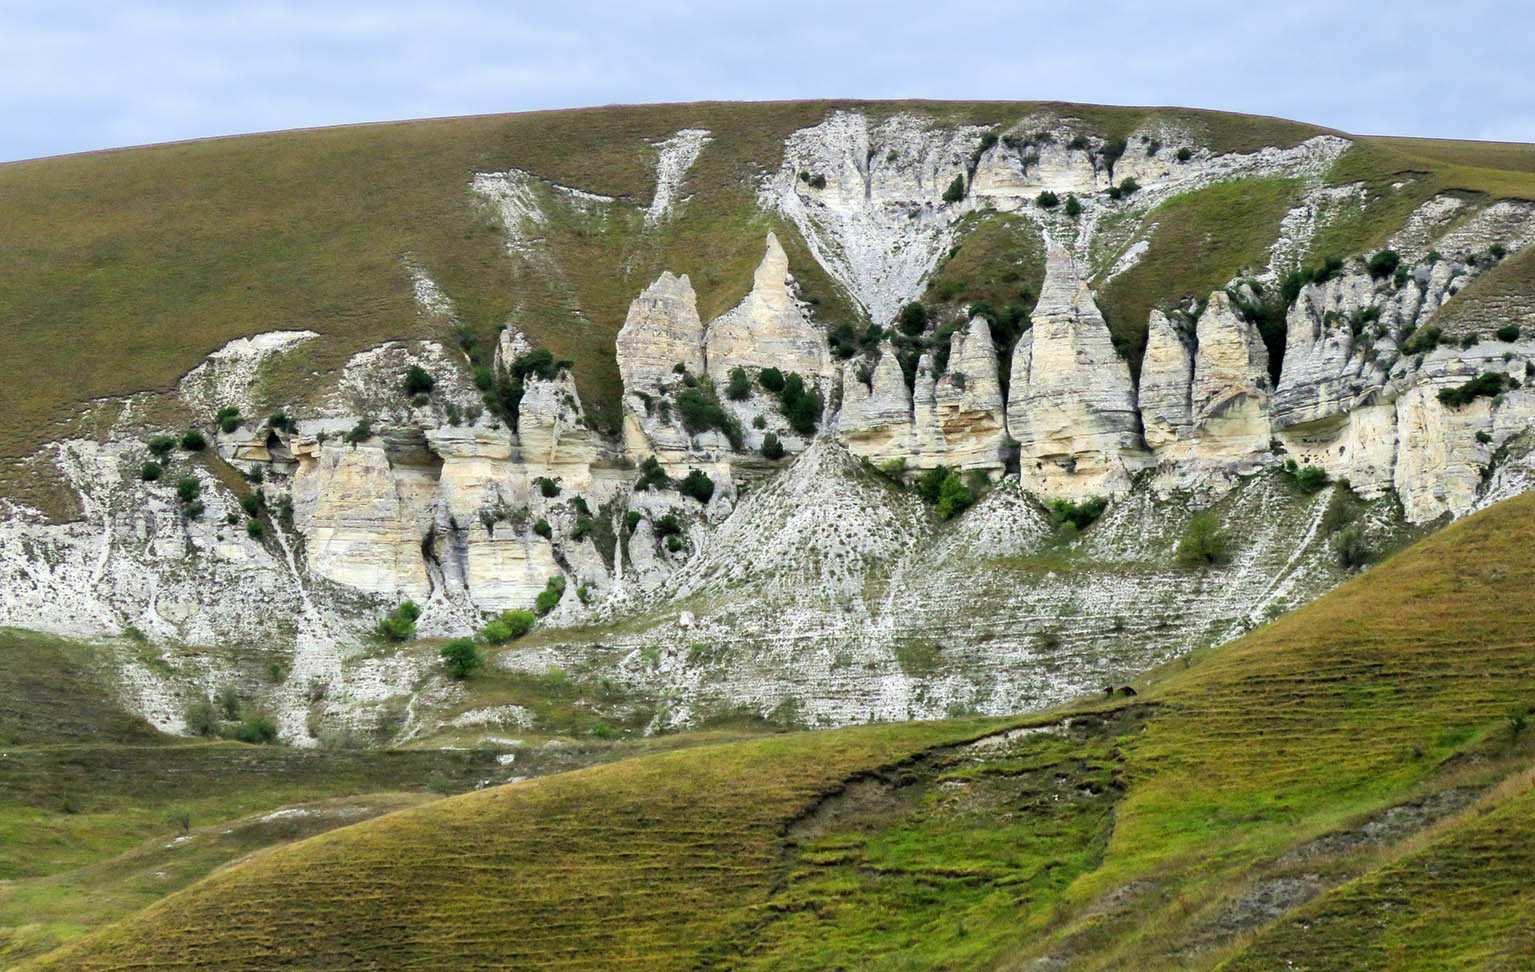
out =
{"type": "Polygon", "coordinates": [[[1051,244],[1033,327],[1013,352],[1007,431],[1039,493],[1122,491],[1144,464],[1130,367],[1071,255],[1051,244]]]}

